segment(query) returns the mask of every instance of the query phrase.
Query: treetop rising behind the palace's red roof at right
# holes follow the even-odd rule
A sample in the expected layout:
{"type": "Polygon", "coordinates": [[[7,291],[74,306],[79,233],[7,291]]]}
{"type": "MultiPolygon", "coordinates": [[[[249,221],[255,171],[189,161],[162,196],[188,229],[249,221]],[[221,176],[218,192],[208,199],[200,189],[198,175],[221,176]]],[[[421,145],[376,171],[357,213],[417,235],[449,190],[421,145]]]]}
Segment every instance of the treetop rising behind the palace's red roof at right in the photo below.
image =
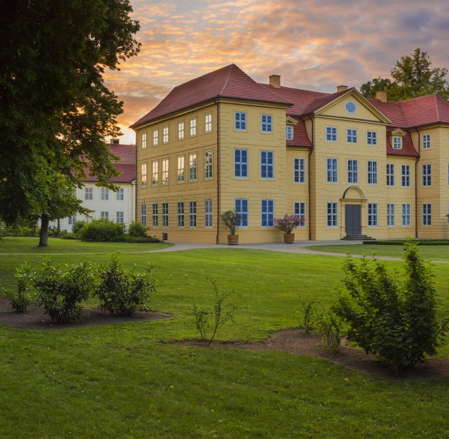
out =
{"type": "Polygon", "coordinates": [[[437,93],[444,99],[449,97],[449,83],[446,67],[430,68],[432,62],[426,51],[419,47],[413,54],[402,56],[391,69],[389,78],[374,78],[361,85],[360,91],[365,97],[376,97],[376,92],[387,92],[390,101],[401,101],[437,93]]]}

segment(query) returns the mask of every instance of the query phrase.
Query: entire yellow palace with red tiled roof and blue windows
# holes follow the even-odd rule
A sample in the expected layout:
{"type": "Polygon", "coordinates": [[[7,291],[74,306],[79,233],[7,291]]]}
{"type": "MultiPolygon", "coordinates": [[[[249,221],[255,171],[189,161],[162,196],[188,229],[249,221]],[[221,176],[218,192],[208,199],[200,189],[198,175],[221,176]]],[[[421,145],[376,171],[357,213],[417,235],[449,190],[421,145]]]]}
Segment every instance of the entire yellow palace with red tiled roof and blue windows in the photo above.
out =
{"type": "Polygon", "coordinates": [[[132,125],[136,218],[171,241],[449,238],[449,103],[387,102],[355,88],[319,93],[252,80],[230,64],[173,88],[132,125]]]}

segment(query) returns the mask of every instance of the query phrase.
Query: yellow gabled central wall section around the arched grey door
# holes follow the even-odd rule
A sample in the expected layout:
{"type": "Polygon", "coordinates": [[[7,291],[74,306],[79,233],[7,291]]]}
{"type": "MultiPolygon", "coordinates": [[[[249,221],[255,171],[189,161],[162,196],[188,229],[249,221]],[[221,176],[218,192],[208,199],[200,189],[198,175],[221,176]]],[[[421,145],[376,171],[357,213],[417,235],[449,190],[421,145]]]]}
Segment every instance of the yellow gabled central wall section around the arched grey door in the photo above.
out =
{"type": "Polygon", "coordinates": [[[311,154],[311,239],[341,239],[346,235],[345,206],[361,206],[361,234],[385,237],[386,197],[386,130],[385,123],[369,112],[360,102],[356,111],[348,115],[345,104],[352,97],[315,117],[314,150],[311,154]],[[365,119],[365,120],[363,120],[365,119]],[[327,128],[336,130],[337,139],[329,141],[327,128]],[[356,130],[356,143],[349,143],[347,130],[356,130]],[[376,132],[376,145],[368,145],[367,132],[376,132]],[[329,182],[328,159],[337,159],[337,181],[329,182]],[[357,180],[348,180],[348,161],[356,161],[357,180]],[[368,161],[376,163],[377,181],[368,183],[368,161]],[[350,189],[353,188],[353,189],[350,189]],[[337,203],[337,225],[328,225],[328,203],[337,203]],[[377,225],[368,224],[368,204],[377,204],[377,225]]]}

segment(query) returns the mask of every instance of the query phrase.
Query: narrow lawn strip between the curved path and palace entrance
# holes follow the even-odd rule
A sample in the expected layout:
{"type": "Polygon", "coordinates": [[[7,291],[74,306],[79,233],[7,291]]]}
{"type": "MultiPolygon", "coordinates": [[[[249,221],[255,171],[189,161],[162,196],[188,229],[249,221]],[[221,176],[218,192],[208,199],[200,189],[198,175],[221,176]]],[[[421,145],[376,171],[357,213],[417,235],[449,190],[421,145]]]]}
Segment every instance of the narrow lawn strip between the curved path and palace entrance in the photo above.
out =
{"type": "MultiPolygon", "coordinates": [[[[366,254],[371,256],[375,253],[377,256],[389,256],[402,258],[404,250],[402,246],[376,246],[376,244],[341,244],[336,246],[310,246],[308,250],[317,250],[318,252],[328,253],[350,253],[366,254]]],[[[420,246],[422,257],[432,260],[449,261],[449,246],[420,246]]]]}

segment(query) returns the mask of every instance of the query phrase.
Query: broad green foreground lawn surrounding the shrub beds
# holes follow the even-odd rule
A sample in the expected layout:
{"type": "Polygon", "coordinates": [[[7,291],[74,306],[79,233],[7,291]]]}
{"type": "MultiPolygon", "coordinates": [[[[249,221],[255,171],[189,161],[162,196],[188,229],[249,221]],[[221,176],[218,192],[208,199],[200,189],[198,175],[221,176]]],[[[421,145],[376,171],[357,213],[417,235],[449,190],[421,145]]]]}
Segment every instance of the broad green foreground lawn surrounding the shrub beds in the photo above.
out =
{"type": "MultiPolygon", "coordinates": [[[[100,244],[63,254],[62,242],[80,244],[51,241],[54,261],[108,257],[100,244]]],[[[121,260],[154,263],[151,305],[173,318],[59,331],[0,327],[0,438],[449,437],[449,379],[385,381],[313,357],[173,344],[196,337],[191,307],[210,303],[206,276],[238,292],[236,320],[219,340],[260,340],[298,324],[300,296],[328,305],[343,258],[226,248],[132,253],[145,245],[128,244],[121,260]]],[[[38,266],[40,255],[24,255],[23,241],[22,254],[12,254],[14,241],[2,246],[3,283],[24,260],[38,266]]],[[[449,305],[449,270],[434,272],[449,305]]],[[[449,358],[447,345],[440,355],[449,358]]]]}

